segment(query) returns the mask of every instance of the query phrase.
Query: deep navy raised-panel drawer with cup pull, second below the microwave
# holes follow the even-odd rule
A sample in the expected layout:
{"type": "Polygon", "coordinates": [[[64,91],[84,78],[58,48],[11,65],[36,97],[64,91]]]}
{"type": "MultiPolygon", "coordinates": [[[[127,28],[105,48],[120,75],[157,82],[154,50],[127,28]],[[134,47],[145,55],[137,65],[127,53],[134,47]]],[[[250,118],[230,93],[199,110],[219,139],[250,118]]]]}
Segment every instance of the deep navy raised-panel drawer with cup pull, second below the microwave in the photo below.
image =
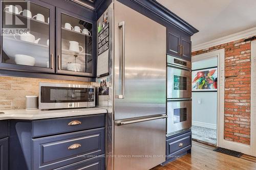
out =
{"type": "Polygon", "coordinates": [[[32,139],[33,169],[54,169],[104,154],[105,128],[32,139]]]}

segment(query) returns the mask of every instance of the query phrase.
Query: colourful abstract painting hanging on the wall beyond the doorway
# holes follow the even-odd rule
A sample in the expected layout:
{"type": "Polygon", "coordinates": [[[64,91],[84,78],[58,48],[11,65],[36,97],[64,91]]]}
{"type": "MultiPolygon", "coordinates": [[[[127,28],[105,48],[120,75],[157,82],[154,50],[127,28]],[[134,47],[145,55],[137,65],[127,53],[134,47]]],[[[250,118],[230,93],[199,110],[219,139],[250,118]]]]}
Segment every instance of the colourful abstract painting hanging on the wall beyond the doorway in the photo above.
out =
{"type": "Polygon", "coordinates": [[[218,68],[192,71],[192,91],[217,91],[218,68]]]}

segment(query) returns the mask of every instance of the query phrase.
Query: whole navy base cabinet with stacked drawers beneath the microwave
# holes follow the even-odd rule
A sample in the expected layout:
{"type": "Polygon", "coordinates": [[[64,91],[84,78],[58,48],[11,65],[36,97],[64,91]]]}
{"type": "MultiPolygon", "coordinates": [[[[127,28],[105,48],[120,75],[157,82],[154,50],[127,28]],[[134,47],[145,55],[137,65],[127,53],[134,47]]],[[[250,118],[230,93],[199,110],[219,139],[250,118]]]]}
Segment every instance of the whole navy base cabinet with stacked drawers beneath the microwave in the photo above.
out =
{"type": "Polygon", "coordinates": [[[10,120],[10,170],[103,170],[105,114],[10,120]]]}

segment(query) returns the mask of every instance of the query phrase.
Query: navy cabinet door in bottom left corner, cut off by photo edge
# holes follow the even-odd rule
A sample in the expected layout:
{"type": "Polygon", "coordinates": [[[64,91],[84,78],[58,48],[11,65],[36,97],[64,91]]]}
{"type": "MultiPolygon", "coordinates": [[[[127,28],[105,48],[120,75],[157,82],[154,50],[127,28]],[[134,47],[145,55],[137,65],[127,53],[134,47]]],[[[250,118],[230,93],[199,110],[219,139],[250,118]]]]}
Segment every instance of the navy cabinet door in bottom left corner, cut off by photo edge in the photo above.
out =
{"type": "Polygon", "coordinates": [[[9,138],[0,139],[0,170],[8,170],[9,138]]]}

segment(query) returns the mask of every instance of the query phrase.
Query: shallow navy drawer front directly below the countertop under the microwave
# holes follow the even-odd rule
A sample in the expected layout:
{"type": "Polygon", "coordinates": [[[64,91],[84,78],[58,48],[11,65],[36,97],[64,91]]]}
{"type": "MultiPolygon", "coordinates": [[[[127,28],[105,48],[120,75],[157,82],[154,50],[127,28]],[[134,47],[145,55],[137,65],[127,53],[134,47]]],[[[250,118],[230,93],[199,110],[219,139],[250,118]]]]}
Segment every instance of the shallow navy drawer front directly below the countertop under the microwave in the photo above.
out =
{"type": "Polygon", "coordinates": [[[33,137],[105,127],[105,114],[33,121],[33,137]]]}

